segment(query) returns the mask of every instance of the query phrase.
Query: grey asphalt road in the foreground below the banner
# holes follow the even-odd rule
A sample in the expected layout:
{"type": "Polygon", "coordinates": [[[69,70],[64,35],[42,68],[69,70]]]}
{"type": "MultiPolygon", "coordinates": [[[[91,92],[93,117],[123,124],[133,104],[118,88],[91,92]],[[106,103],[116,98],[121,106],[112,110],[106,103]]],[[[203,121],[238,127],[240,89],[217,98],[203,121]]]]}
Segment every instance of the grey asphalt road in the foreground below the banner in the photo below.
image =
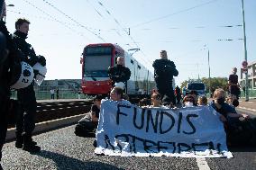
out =
{"type": "Polygon", "coordinates": [[[96,156],[93,138],[75,136],[74,127],[42,133],[34,137],[41,152],[31,155],[14,148],[14,142],[5,144],[4,169],[256,169],[256,148],[231,148],[234,158],[180,157],[107,157],[96,156]],[[203,163],[203,166],[199,164],[203,163]]]}

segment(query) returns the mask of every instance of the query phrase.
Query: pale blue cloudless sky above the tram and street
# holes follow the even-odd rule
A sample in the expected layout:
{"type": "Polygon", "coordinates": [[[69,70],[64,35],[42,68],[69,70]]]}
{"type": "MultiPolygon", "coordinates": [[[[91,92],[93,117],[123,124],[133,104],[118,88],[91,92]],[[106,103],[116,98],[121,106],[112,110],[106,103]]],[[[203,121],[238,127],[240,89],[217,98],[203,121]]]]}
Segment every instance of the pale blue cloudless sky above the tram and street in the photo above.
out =
{"type": "MultiPolygon", "coordinates": [[[[153,72],[160,50],[174,61],[177,85],[188,78],[227,77],[244,60],[242,0],[5,0],[6,26],[28,19],[27,42],[47,59],[46,80],[81,79],[79,60],[91,43],[138,48],[153,72]],[[130,30],[130,35],[128,34],[130,30]]],[[[244,0],[248,63],[256,61],[256,0],[244,0]]],[[[238,73],[240,74],[240,73],[238,73]]]]}

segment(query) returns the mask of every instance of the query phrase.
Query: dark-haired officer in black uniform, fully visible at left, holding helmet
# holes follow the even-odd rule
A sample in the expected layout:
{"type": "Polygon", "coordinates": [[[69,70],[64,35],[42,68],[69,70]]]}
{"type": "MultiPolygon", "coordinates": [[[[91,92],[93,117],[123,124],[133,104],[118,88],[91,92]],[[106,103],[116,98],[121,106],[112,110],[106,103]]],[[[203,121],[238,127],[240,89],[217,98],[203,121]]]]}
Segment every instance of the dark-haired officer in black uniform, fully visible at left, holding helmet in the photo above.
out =
{"type": "MultiPolygon", "coordinates": [[[[45,66],[45,58],[38,58],[35,54],[32,45],[26,42],[28,36],[30,22],[26,19],[18,19],[15,22],[13,39],[17,44],[18,49],[23,53],[23,61],[30,66],[34,66],[37,62],[45,66]]],[[[19,114],[16,122],[16,148],[23,148],[29,152],[39,152],[41,148],[32,140],[32,131],[35,128],[36,114],[36,98],[33,89],[34,82],[26,88],[17,90],[17,99],[20,104],[19,114]]]]}

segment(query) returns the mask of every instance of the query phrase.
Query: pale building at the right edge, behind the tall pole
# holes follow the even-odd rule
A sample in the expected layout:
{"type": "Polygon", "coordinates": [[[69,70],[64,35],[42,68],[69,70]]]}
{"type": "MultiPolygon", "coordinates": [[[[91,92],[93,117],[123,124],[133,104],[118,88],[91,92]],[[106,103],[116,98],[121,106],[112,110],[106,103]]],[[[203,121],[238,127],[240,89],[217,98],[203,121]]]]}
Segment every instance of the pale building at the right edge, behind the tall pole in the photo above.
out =
{"type": "MultiPolygon", "coordinates": [[[[241,89],[245,85],[245,75],[240,70],[240,85],[241,89]]],[[[248,65],[248,87],[249,89],[256,90],[256,61],[248,65]]]]}

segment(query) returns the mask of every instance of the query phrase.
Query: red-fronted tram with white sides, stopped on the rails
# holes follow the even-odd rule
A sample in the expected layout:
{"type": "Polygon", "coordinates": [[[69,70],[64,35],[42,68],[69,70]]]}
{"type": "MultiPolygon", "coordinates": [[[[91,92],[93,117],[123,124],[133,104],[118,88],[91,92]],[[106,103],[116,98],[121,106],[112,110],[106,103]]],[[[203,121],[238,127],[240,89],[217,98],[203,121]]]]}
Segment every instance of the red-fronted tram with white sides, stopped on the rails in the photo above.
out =
{"type": "Polygon", "coordinates": [[[84,94],[109,94],[112,83],[107,75],[108,67],[116,65],[116,58],[124,57],[124,66],[131,70],[127,82],[127,94],[151,94],[155,87],[153,75],[128,52],[112,43],[89,44],[83,51],[82,90],[84,94]]]}

